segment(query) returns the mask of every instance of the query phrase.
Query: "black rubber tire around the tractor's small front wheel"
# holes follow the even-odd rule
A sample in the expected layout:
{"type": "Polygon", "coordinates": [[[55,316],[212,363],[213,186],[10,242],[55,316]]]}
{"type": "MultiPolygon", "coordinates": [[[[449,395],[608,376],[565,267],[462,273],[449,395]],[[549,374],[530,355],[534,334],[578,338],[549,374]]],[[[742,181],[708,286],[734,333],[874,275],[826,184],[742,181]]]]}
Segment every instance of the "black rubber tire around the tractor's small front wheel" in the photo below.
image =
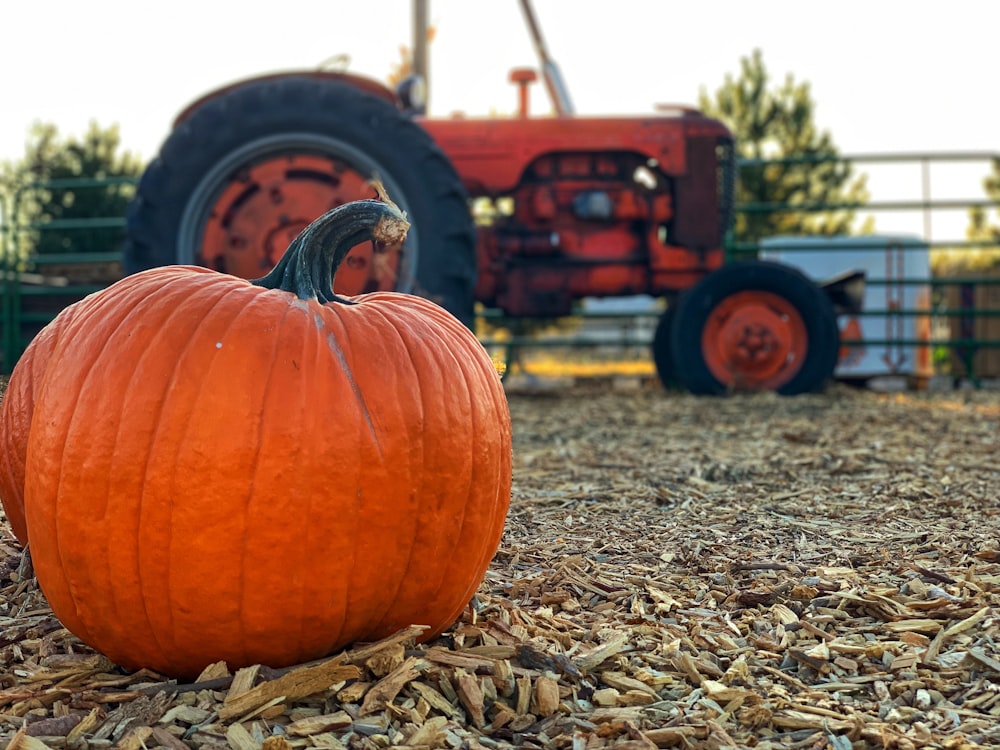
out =
{"type": "Polygon", "coordinates": [[[727,298],[741,292],[763,292],[780,298],[798,313],[804,327],[804,356],[778,360],[781,369],[774,376],[777,382],[769,389],[786,396],[821,390],[832,378],[839,354],[833,304],[822,289],[797,269],[756,260],[723,266],[681,297],[670,336],[677,380],[692,393],[702,395],[762,389],[755,388],[748,378],[741,380],[738,371],[731,377],[717,377],[704,351],[702,336],[713,312],[721,309],[719,306],[727,298]]]}

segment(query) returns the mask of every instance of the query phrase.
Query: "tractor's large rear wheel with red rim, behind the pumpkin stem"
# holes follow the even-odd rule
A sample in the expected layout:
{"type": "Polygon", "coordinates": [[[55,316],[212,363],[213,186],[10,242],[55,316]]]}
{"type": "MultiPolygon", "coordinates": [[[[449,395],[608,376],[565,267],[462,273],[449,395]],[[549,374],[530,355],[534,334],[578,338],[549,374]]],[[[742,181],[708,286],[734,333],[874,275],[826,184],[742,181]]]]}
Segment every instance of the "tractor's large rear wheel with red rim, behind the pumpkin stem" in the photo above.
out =
{"type": "Polygon", "coordinates": [[[307,75],[223,91],[176,127],[129,207],[125,270],[198,264],[263,276],[313,219],[375,197],[373,178],[406,211],[409,236],[398,253],[355,247],[335,290],[420,294],[471,327],[475,234],[451,162],[391,102],[307,75]]]}

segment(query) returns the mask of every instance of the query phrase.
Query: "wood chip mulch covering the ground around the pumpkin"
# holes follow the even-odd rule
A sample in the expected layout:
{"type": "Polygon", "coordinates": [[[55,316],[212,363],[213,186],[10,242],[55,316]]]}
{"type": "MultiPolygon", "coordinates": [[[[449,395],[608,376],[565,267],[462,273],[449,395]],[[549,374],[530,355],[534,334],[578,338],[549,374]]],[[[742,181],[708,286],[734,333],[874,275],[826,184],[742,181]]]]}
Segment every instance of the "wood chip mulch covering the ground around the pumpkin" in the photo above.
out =
{"type": "Polygon", "coordinates": [[[126,673],[0,539],[11,750],[1000,747],[1000,393],[512,392],[462,620],[292,669],[126,673]]]}

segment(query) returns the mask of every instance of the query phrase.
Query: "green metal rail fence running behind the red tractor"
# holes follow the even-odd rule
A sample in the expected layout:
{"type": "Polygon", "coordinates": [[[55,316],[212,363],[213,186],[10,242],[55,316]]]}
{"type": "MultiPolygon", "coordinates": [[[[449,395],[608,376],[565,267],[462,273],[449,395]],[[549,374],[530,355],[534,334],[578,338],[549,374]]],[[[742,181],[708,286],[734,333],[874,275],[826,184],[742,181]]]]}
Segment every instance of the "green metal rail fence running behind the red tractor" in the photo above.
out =
{"type": "MultiPolygon", "coordinates": [[[[988,210],[1000,206],[1000,201],[987,199],[938,200],[931,197],[930,165],[943,162],[979,162],[984,165],[983,176],[987,173],[989,164],[1000,158],[994,153],[945,153],[945,154],[869,154],[845,157],[801,157],[782,160],[742,160],[741,169],[766,166],[768,164],[799,164],[808,167],[810,164],[828,161],[843,161],[854,165],[866,163],[896,163],[914,165],[920,170],[921,197],[916,200],[880,200],[867,203],[841,204],[781,204],[774,202],[743,203],[737,205],[737,212],[743,214],[764,214],[774,212],[821,213],[844,210],[863,211],[878,215],[885,211],[913,211],[922,213],[925,225],[930,226],[930,215],[934,211],[967,210],[973,207],[988,210]]],[[[2,270],[3,304],[0,308],[2,316],[2,362],[0,369],[10,372],[33,333],[49,322],[58,313],[61,306],[69,304],[74,299],[97,291],[112,279],[94,282],[84,282],[66,279],[65,283],[52,283],[53,276],[58,276],[60,268],[66,266],[88,264],[116,264],[120,262],[120,253],[116,248],[106,248],[98,252],[67,252],[47,253],[20,257],[22,245],[26,236],[31,233],[60,233],[72,237],[74,232],[94,229],[115,229],[124,225],[123,217],[87,217],[60,219],[45,223],[18,224],[14,220],[18,215],[19,204],[30,197],[31,191],[52,189],[102,189],[114,185],[131,185],[132,178],[112,178],[96,180],[81,178],[75,180],[58,180],[26,186],[13,196],[7,196],[0,204],[0,270],[2,270]],[[34,282],[34,283],[32,283],[34,282]],[[39,283],[41,282],[41,283],[39,283]]],[[[970,192],[981,191],[980,185],[970,185],[970,192]]],[[[951,250],[958,254],[963,251],[996,249],[990,242],[943,242],[929,241],[929,232],[925,232],[921,246],[928,252],[935,253],[951,250]]],[[[863,247],[863,243],[855,241],[855,249],[863,247]]],[[[756,257],[761,252],[758,243],[735,243],[727,245],[727,257],[756,257]]],[[[872,252],[884,252],[885,240],[873,240],[872,252]]],[[[935,336],[931,343],[937,351],[946,351],[950,364],[961,370],[960,375],[969,377],[979,383],[982,376],[1000,377],[1000,270],[966,271],[950,277],[932,276],[930,278],[910,276],[880,276],[869,274],[867,283],[871,287],[892,286],[894,289],[927,285],[932,290],[933,304],[930,315],[937,326],[936,330],[948,329],[947,338],[935,336]],[[996,371],[994,371],[996,368],[996,371]]],[[[621,335],[613,342],[607,337],[594,337],[586,330],[580,333],[567,334],[560,331],[546,336],[513,336],[502,338],[498,336],[483,336],[483,343],[491,347],[503,347],[506,350],[521,347],[583,347],[617,345],[625,347],[647,347],[650,343],[652,325],[650,321],[644,325],[633,325],[642,318],[658,315],[658,308],[640,313],[590,313],[581,310],[579,317],[586,321],[596,318],[621,318],[621,335]]],[[[863,311],[863,317],[884,318],[890,322],[904,321],[917,317],[925,317],[928,311],[912,307],[896,305],[876,305],[863,311]]],[[[494,326],[505,322],[496,311],[483,311],[482,318],[494,326]]],[[[586,328],[586,326],[584,326],[586,328]]],[[[926,343],[925,339],[904,337],[894,327],[892,336],[866,336],[864,338],[845,337],[845,345],[863,346],[916,346],[926,343]]]]}

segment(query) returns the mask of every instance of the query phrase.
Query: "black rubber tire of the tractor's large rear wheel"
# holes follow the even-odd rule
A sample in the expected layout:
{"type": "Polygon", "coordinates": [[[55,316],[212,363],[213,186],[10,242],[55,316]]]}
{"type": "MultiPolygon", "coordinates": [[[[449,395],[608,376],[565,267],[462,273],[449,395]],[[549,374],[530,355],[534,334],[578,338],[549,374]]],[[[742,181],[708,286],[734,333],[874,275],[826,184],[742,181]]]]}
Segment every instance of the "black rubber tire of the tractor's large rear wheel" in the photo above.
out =
{"type": "Polygon", "coordinates": [[[471,328],[475,229],[451,162],[390,102],[310,76],[224,91],[179,124],[129,207],[126,272],[196,262],[208,213],[239,169],[299,153],[335,157],[382,181],[412,222],[397,290],[434,300],[471,328]]]}

